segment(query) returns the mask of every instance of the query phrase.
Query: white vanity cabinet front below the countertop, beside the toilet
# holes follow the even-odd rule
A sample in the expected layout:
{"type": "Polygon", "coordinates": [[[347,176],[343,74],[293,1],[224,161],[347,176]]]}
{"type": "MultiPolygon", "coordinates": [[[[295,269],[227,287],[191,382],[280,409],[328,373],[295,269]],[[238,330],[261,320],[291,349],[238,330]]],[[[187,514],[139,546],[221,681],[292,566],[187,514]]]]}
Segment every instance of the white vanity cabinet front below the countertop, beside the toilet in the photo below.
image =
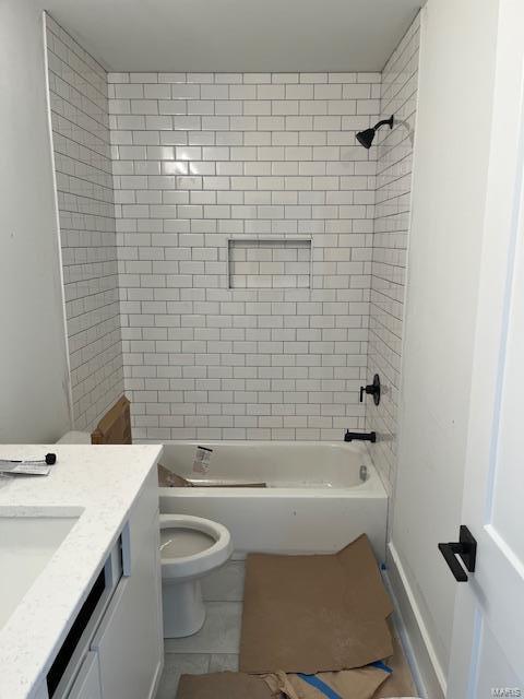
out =
{"type": "MultiPolygon", "coordinates": [[[[110,589],[99,596],[72,648],[68,648],[70,660],[60,671],[59,683],[50,685],[48,674],[32,699],[155,696],[164,662],[157,483],[155,467],[123,530],[116,532],[120,535],[121,556],[117,544],[118,565],[114,552],[105,566],[110,589]]],[[[79,612],[79,616],[82,614],[79,612]]]]}

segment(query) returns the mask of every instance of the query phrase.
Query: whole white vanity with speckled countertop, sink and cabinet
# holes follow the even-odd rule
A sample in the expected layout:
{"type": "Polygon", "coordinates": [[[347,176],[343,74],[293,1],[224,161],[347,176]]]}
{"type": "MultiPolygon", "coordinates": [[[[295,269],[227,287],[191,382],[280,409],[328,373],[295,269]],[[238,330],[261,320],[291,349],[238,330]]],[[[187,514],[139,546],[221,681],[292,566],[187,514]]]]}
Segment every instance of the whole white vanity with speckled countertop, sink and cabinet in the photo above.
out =
{"type": "Polygon", "coordinates": [[[0,487],[0,697],[148,699],[163,670],[160,446],[52,451],[0,487]]]}

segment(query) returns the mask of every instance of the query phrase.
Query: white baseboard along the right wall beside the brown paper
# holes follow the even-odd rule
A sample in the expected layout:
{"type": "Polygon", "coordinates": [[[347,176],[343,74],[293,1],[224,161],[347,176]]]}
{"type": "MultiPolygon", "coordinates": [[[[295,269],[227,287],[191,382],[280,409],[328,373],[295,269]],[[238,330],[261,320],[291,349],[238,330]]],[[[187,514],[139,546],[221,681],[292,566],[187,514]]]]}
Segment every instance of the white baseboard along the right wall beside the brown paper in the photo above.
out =
{"type": "Polygon", "coordinates": [[[388,544],[388,584],[400,616],[400,635],[421,697],[445,699],[446,678],[394,545],[388,544]]]}

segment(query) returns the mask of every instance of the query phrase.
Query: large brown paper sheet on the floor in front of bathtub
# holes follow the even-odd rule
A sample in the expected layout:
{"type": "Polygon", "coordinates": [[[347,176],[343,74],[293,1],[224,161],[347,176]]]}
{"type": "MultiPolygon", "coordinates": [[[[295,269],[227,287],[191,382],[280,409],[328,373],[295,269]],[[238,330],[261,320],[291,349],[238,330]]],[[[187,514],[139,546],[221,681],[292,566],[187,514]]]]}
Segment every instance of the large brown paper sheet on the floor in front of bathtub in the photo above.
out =
{"type": "Polygon", "coordinates": [[[337,554],[247,559],[239,668],[314,674],[393,653],[393,612],[368,537],[337,554]]]}

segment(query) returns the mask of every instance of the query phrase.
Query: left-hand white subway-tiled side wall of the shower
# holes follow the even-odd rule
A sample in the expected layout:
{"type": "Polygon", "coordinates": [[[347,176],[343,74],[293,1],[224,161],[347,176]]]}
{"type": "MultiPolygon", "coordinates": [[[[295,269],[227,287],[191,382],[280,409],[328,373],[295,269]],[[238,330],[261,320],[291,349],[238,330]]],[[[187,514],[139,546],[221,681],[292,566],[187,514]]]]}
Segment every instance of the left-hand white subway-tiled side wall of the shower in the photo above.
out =
{"type": "Polygon", "coordinates": [[[92,429],[123,392],[107,74],[46,25],[74,427],[92,429]]]}

